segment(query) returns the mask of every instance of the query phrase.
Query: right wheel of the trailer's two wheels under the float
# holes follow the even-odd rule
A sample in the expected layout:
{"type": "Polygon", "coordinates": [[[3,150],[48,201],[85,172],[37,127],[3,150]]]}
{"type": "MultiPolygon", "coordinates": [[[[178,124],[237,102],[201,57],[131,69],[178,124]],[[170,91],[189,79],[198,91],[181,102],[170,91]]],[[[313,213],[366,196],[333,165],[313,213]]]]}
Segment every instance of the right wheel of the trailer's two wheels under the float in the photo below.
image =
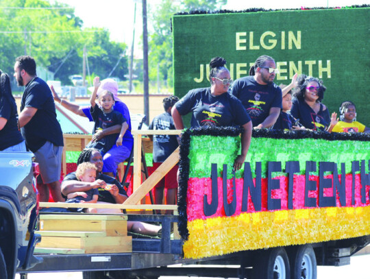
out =
{"type": "Polygon", "coordinates": [[[317,262],[312,245],[301,245],[289,253],[291,279],[316,279],[317,262]]]}

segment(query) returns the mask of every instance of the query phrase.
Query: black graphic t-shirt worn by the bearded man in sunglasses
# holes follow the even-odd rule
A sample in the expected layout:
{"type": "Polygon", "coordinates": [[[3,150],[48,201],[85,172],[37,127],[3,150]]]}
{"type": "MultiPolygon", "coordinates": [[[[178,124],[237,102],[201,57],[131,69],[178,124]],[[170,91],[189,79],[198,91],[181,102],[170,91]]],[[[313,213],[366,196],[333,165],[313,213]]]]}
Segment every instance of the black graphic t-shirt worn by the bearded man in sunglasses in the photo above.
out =
{"type": "Polygon", "coordinates": [[[270,108],[282,108],[282,90],[274,83],[262,85],[253,76],[240,77],[230,90],[240,99],[254,127],[269,116],[270,108]]]}

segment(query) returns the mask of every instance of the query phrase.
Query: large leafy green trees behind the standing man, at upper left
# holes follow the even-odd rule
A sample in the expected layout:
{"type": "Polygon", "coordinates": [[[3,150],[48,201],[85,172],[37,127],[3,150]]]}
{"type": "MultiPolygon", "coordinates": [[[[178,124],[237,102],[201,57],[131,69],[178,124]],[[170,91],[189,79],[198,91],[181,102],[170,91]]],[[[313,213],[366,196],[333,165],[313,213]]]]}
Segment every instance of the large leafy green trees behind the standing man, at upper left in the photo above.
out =
{"type": "Polygon", "coordinates": [[[24,54],[70,84],[69,75],[82,73],[86,46],[90,73],[123,76],[126,45],[109,40],[106,29],[82,29],[82,20],[66,4],[45,0],[0,0],[0,69],[12,73],[14,59],[24,54]],[[12,7],[12,9],[5,8],[12,7]],[[59,8],[59,9],[51,9],[59,8]],[[121,57],[122,56],[122,57],[121,57]],[[117,63],[119,61],[119,63],[117,63]]]}

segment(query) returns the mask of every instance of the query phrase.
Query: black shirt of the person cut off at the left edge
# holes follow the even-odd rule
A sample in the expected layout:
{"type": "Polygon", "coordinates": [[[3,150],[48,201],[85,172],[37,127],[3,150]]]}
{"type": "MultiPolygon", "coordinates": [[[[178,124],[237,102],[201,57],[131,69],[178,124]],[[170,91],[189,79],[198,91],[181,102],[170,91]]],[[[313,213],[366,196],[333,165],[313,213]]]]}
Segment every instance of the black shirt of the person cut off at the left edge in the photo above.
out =
{"type": "Polygon", "coordinates": [[[12,97],[0,98],[0,117],[7,119],[5,126],[0,130],[0,151],[3,151],[23,141],[18,130],[16,103],[12,97]]]}

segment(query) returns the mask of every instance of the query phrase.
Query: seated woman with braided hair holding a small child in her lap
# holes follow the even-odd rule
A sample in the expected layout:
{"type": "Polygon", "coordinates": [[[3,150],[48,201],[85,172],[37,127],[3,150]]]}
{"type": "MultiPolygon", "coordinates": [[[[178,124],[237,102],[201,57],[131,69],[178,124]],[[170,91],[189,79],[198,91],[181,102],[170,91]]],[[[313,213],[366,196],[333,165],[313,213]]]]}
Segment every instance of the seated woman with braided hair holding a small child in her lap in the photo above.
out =
{"type": "MultiPolygon", "coordinates": [[[[77,165],[82,162],[91,162],[97,167],[97,176],[94,182],[82,182],[77,179],[76,173],[69,173],[62,182],[62,195],[66,197],[69,193],[86,192],[98,189],[97,204],[122,204],[127,199],[127,193],[123,186],[109,175],[101,173],[103,169],[103,157],[99,150],[94,148],[84,149],[77,160],[77,165]]],[[[97,213],[122,213],[121,209],[97,208],[97,213]]],[[[127,221],[127,230],[138,234],[158,236],[161,233],[160,226],[138,221],[127,221]]]]}

